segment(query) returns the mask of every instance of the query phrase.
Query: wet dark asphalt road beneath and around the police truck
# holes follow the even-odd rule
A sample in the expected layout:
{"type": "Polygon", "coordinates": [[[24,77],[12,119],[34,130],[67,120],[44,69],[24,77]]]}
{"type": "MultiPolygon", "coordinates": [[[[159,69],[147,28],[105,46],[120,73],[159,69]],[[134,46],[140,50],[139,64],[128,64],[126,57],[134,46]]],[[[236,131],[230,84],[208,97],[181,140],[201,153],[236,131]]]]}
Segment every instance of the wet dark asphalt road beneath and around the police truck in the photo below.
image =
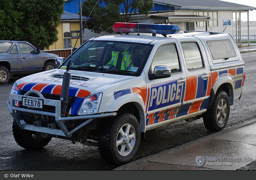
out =
{"type": "MultiPolygon", "coordinates": [[[[256,52],[244,53],[245,86],[243,96],[230,107],[230,128],[256,118],[256,52]]],[[[26,150],[18,146],[12,135],[13,119],[7,109],[7,100],[13,82],[0,85],[0,170],[112,170],[117,166],[105,163],[98,147],[53,138],[41,150],[26,150]]],[[[182,145],[213,132],[204,127],[203,120],[180,121],[146,132],[134,160],[182,145]]]]}

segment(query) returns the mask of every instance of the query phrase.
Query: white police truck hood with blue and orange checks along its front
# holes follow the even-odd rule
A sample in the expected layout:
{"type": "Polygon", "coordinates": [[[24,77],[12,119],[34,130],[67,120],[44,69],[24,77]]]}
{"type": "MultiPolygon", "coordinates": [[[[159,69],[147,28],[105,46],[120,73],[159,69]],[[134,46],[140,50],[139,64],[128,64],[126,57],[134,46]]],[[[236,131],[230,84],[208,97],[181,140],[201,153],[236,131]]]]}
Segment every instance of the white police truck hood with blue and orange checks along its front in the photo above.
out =
{"type": "MultiPolygon", "coordinates": [[[[66,70],[53,69],[29,75],[16,81],[19,90],[37,90],[47,94],[61,94],[63,74],[66,70]]],[[[69,96],[85,97],[103,92],[112,84],[126,83],[134,77],[85,71],[70,71],[69,96]]]]}

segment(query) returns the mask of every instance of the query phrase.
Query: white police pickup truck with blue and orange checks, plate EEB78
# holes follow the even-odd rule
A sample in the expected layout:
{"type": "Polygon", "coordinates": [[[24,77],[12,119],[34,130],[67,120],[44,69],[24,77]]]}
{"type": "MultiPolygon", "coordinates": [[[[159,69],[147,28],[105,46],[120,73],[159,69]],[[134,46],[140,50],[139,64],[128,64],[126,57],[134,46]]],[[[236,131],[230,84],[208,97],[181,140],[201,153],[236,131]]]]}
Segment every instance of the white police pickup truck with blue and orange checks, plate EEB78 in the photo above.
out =
{"type": "Polygon", "coordinates": [[[121,165],[150,129],[199,118],[212,131],[226,126],[245,81],[230,34],[133,23],[113,30],[122,33],[90,39],[57,69],[13,84],[7,106],[17,144],[69,139],[121,165]]]}

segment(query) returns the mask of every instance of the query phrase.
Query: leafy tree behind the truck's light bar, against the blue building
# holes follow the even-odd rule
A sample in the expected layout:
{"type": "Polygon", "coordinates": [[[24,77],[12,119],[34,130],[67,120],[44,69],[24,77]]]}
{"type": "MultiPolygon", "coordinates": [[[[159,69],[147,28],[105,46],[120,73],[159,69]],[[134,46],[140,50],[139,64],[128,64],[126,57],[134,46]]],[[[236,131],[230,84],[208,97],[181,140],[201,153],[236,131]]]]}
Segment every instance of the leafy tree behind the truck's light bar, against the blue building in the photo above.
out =
{"type": "MultiPolygon", "coordinates": [[[[88,17],[97,1],[85,0],[82,3],[82,15],[88,17]]],[[[148,15],[153,8],[153,0],[100,0],[90,15],[94,21],[87,22],[85,28],[95,33],[105,30],[112,33],[111,27],[115,22],[129,22],[130,16],[134,13],[148,15]]]]}

